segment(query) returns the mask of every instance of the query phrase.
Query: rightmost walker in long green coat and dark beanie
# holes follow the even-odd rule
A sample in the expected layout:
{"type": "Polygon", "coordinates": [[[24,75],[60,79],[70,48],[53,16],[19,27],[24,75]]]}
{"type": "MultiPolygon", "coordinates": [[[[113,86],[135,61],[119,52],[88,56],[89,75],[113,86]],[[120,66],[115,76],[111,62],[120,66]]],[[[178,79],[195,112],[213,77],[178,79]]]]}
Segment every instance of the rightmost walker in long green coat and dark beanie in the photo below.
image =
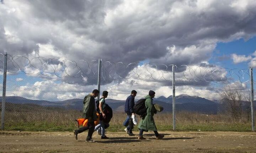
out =
{"type": "Polygon", "coordinates": [[[143,117],[138,125],[138,128],[140,129],[140,133],[139,133],[139,140],[145,140],[145,138],[143,137],[143,131],[148,131],[148,130],[152,130],[155,133],[156,139],[161,139],[164,137],[164,135],[160,135],[156,129],[155,126],[155,121],[154,121],[154,114],[156,114],[156,109],[153,105],[153,98],[155,97],[155,92],[154,91],[149,91],[149,94],[146,95],[145,99],[145,106],[147,108],[146,111],[146,116],[143,117]]]}

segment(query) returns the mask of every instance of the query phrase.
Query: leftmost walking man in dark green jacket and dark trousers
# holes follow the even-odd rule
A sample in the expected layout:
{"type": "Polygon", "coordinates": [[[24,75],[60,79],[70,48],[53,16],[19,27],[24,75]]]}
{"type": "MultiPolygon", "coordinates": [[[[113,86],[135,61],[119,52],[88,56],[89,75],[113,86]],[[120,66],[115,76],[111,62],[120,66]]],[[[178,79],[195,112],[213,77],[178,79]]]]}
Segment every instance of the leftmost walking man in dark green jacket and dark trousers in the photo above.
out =
{"type": "Polygon", "coordinates": [[[97,120],[95,98],[98,97],[99,93],[100,92],[97,89],[94,89],[92,93],[86,95],[84,98],[83,117],[85,119],[88,119],[88,124],[85,127],[81,127],[78,130],[73,131],[76,140],[78,139],[78,133],[89,130],[86,142],[95,142],[94,140],[92,140],[92,133],[94,132],[95,127],[94,121],[97,120]]]}

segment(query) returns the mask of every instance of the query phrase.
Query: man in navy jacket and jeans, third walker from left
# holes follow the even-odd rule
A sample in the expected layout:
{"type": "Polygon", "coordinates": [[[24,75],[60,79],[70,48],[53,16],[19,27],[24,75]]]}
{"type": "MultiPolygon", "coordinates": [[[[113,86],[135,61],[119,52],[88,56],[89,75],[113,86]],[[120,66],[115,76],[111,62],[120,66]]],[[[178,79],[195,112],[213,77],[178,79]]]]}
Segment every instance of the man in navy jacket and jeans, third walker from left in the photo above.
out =
{"type": "MultiPolygon", "coordinates": [[[[133,121],[132,121],[132,115],[134,114],[134,98],[137,95],[137,91],[133,90],[131,92],[131,95],[129,97],[127,97],[126,99],[126,103],[125,103],[125,107],[124,107],[124,111],[127,115],[126,121],[124,122],[128,122],[128,126],[126,127],[126,129],[124,129],[124,131],[126,131],[126,133],[128,133],[129,136],[134,136],[132,129],[133,129],[133,121]]],[[[126,126],[127,124],[124,123],[124,126],[126,126]]]]}

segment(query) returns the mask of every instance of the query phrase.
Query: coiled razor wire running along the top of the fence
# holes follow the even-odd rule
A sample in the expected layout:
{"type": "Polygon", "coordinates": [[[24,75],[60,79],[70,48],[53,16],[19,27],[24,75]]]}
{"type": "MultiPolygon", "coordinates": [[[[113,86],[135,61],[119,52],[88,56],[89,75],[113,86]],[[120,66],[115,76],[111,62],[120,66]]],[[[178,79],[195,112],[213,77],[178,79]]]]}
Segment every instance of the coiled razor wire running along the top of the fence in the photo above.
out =
{"type": "MultiPolygon", "coordinates": [[[[0,71],[3,71],[4,54],[0,53],[0,71]]],[[[102,62],[103,81],[133,79],[145,81],[172,81],[173,64],[155,64],[133,62],[102,62]]],[[[240,82],[250,81],[249,69],[229,69],[218,66],[175,65],[176,81],[184,82],[240,82]]],[[[74,77],[91,79],[98,74],[97,60],[70,61],[57,58],[27,58],[21,55],[7,55],[7,72],[25,73],[27,75],[56,76],[58,78],[74,77]]]]}

